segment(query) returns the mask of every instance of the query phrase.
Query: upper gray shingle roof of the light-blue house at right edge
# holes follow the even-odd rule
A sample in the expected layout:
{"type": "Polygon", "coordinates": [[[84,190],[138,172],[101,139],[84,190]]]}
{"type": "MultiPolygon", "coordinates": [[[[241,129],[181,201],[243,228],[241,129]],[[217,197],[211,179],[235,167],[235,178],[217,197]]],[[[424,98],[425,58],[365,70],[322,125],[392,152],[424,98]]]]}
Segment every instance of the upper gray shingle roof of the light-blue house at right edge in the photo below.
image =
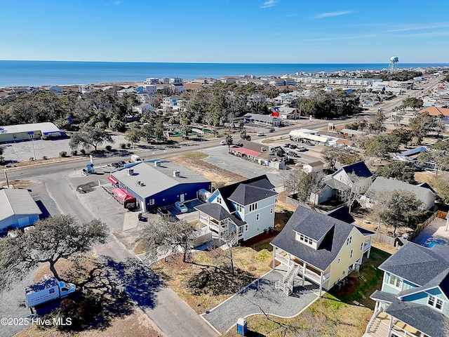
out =
{"type": "Polygon", "coordinates": [[[449,260],[429,248],[407,242],[379,266],[418,286],[424,286],[449,269],[449,260]]]}

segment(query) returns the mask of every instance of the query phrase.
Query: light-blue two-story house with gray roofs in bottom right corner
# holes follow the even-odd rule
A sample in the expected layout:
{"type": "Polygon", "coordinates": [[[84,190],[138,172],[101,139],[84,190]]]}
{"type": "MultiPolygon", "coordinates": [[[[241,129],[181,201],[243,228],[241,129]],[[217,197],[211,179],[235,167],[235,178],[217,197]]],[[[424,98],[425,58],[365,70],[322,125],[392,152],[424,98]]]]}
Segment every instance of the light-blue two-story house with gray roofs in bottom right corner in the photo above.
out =
{"type": "Polygon", "coordinates": [[[384,272],[366,335],[443,337],[449,334],[449,246],[407,242],[379,266],[384,272]]]}

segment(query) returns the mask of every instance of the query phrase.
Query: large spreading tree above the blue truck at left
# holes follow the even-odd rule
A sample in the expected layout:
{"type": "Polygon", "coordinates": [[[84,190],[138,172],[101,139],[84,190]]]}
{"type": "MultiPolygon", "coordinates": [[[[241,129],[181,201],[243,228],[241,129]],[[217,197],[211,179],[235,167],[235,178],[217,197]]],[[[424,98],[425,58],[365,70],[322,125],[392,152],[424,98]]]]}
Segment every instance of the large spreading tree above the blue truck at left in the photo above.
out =
{"type": "Polygon", "coordinates": [[[73,216],[62,215],[39,220],[34,230],[0,242],[0,291],[18,282],[42,263],[48,263],[53,276],[61,279],[55,264],[88,253],[94,244],[104,244],[109,230],[98,219],[79,225],[73,216]]]}

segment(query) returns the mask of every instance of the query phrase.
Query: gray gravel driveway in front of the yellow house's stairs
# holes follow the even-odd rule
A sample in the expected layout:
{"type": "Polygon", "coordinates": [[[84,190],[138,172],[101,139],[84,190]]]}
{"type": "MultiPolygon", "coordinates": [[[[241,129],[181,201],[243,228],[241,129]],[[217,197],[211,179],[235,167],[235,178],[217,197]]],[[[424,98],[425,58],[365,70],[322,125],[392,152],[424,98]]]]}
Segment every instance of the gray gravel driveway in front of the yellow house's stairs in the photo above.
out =
{"type": "MultiPolygon", "coordinates": [[[[217,331],[225,333],[240,317],[263,312],[278,317],[293,317],[319,298],[318,288],[312,284],[295,286],[293,294],[286,296],[283,291],[274,288],[276,280],[282,277],[280,272],[272,270],[201,317],[217,331]]],[[[300,284],[299,279],[295,280],[295,284],[300,284]]]]}

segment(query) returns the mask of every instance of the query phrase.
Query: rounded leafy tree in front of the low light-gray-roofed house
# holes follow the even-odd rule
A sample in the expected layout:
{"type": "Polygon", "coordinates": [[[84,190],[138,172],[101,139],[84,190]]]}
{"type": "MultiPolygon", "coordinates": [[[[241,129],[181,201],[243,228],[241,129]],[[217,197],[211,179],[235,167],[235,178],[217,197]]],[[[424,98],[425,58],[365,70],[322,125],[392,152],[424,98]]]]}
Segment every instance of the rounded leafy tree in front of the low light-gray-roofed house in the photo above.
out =
{"type": "Polygon", "coordinates": [[[387,226],[394,228],[394,234],[396,234],[397,227],[415,229],[425,213],[422,201],[417,199],[415,193],[406,190],[394,190],[387,201],[387,209],[385,209],[382,218],[384,218],[387,226]]]}

